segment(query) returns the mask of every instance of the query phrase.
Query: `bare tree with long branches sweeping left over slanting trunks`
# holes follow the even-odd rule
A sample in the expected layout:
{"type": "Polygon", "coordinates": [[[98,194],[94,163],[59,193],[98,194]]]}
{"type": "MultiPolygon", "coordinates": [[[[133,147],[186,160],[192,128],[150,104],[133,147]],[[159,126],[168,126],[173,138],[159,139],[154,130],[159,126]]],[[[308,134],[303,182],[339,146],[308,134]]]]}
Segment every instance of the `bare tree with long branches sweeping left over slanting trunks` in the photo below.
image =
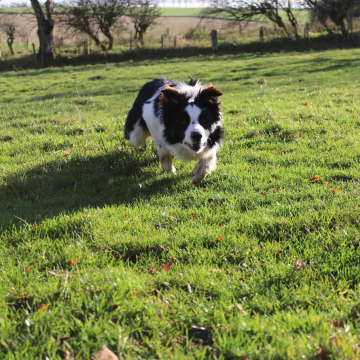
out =
{"type": "Polygon", "coordinates": [[[297,31],[297,20],[292,11],[290,0],[211,0],[210,7],[202,11],[206,15],[226,15],[238,22],[259,19],[265,16],[283,29],[286,36],[290,37],[286,24],[284,23],[280,10],[285,10],[292,25],[295,38],[299,39],[297,31]]]}

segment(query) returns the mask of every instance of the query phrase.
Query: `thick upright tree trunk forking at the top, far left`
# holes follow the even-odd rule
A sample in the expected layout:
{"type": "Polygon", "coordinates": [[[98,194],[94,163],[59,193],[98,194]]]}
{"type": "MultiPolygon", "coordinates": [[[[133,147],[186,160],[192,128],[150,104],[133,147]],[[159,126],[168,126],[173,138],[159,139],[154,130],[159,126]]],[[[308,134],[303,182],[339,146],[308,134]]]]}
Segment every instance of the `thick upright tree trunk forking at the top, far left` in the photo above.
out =
{"type": "Polygon", "coordinates": [[[38,0],[30,0],[34,10],[38,25],[39,37],[39,55],[43,61],[48,61],[54,57],[53,55],[53,30],[54,21],[52,19],[53,0],[45,2],[45,14],[38,0]]]}

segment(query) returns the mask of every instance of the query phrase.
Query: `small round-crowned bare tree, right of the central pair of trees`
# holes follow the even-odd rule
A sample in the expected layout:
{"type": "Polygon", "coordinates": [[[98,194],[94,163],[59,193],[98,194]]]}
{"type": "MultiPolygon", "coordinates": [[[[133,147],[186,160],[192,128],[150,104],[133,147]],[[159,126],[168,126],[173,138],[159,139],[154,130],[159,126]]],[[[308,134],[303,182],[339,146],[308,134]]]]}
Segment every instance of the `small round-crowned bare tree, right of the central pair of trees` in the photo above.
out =
{"type": "Polygon", "coordinates": [[[131,9],[131,20],[135,27],[135,39],[144,46],[146,30],[156,24],[156,19],[161,16],[160,9],[149,0],[139,0],[131,9]]]}

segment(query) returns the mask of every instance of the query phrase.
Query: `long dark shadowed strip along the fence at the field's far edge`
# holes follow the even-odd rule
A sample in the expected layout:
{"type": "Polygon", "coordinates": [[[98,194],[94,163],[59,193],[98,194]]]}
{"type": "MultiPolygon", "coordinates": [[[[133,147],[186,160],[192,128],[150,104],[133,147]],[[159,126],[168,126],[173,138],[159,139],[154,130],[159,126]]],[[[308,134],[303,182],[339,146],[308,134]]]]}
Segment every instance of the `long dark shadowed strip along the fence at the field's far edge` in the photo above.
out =
{"type": "MultiPolygon", "coordinates": [[[[272,39],[268,42],[261,43],[254,41],[247,44],[220,44],[217,55],[225,54],[246,54],[246,53],[273,53],[286,51],[323,51],[328,49],[346,49],[356,48],[360,45],[360,33],[354,33],[351,38],[344,39],[341,35],[321,35],[309,39],[302,39],[295,41],[288,38],[272,39]]],[[[135,60],[159,60],[171,58],[189,58],[200,55],[215,55],[211,47],[196,47],[188,46],[183,48],[166,48],[166,49],[137,49],[133,51],[126,51],[118,54],[108,54],[106,52],[101,54],[91,54],[90,56],[77,57],[61,57],[58,56],[47,64],[34,62],[33,55],[28,55],[17,59],[8,59],[0,63],[0,71],[21,70],[21,69],[39,69],[44,67],[62,67],[62,66],[80,66],[87,64],[104,64],[104,63],[120,63],[123,61],[135,60]]],[[[201,60],[201,59],[200,59],[201,60]]],[[[209,59],[206,58],[206,61],[209,59]]],[[[216,57],[213,59],[217,61],[216,57]]],[[[141,64],[140,64],[141,65],[141,64]]],[[[136,63],[131,66],[137,66],[136,63]]],[[[331,70],[331,69],[329,69],[331,70]]],[[[37,73],[41,75],[49,71],[43,70],[37,73]]],[[[51,71],[51,70],[50,70],[51,71]]],[[[56,70],[60,72],[61,70],[56,70]]],[[[326,71],[323,69],[322,71],[326,71]]],[[[51,71],[53,72],[53,71],[51,71]]],[[[9,75],[8,75],[9,76],[9,75]]],[[[11,75],[10,75],[11,76],[11,75]]]]}

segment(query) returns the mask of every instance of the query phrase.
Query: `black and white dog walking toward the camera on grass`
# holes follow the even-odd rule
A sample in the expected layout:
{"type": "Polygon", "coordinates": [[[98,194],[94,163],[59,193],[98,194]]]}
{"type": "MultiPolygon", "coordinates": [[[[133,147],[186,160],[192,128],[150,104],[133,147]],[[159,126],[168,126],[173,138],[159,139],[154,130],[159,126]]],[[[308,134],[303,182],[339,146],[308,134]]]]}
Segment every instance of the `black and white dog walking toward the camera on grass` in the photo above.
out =
{"type": "Polygon", "coordinates": [[[198,161],[192,181],[197,183],[216,168],[216,152],[223,138],[219,96],[214,86],[154,79],[140,90],[125,123],[125,137],[135,148],[146,147],[151,136],[166,173],[175,172],[173,155],[198,161]]]}

